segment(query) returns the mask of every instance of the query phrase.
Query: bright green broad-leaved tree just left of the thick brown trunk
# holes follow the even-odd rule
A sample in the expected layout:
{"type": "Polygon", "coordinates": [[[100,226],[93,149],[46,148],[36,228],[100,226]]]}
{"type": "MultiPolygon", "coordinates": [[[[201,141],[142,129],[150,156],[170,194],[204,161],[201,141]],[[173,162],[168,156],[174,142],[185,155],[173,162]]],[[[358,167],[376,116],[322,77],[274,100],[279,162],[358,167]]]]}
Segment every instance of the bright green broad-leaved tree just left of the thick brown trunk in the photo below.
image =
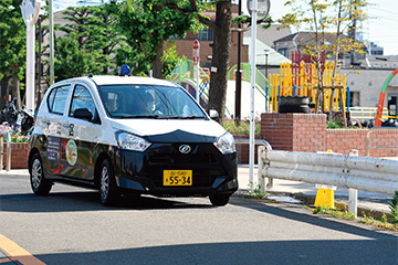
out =
{"type": "Polygon", "coordinates": [[[129,49],[119,50],[119,60],[121,54],[125,55],[125,62],[137,59],[138,64],[130,66],[133,72],[138,73],[148,72],[149,68],[143,67],[149,65],[140,63],[146,61],[155,77],[164,77],[172,68],[176,59],[169,49],[166,49],[168,52],[165,55],[165,42],[171,36],[185,36],[187,31],[197,28],[197,21],[191,15],[165,9],[161,1],[127,0],[121,4],[119,26],[129,49]]]}

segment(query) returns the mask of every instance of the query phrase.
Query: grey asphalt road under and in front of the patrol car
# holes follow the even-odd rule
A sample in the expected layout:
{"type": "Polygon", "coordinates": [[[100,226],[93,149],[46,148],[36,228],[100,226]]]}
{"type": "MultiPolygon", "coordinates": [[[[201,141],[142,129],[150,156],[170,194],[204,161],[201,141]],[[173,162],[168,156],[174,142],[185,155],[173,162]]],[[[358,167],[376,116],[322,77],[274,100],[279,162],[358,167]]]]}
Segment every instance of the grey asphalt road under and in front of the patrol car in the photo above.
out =
{"type": "Polygon", "coordinates": [[[104,208],[62,184],[36,197],[23,176],[0,176],[0,234],[45,264],[398,264],[397,232],[301,204],[143,197],[104,208]]]}

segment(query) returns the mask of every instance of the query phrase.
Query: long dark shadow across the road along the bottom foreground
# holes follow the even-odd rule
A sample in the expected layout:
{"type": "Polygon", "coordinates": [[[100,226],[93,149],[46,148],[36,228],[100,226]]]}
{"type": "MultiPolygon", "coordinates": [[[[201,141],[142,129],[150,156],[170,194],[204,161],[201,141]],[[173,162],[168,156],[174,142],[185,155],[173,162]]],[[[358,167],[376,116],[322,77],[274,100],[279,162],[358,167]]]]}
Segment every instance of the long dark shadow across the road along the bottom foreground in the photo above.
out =
{"type": "MultiPolygon", "coordinates": [[[[392,241],[260,241],[42,254],[46,264],[396,264],[392,241]],[[377,254],[377,250],[384,253],[377,254]]],[[[132,244],[134,244],[132,242],[132,244]]]]}

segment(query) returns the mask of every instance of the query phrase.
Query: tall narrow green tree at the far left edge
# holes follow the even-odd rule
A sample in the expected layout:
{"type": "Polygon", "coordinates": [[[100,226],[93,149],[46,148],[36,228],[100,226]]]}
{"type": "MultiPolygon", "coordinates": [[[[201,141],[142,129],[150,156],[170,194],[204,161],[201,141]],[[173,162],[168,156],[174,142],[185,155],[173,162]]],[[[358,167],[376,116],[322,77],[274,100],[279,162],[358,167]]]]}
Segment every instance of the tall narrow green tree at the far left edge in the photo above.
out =
{"type": "Polygon", "coordinates": [[[11,91],[18,99],[17,106],[21,107],[20,81],[23,78],[27,59],[27,25],[21,14],[21,2],[1,0],[0,3],[0,108],[4,106],[4,96],[11,91]]]}

